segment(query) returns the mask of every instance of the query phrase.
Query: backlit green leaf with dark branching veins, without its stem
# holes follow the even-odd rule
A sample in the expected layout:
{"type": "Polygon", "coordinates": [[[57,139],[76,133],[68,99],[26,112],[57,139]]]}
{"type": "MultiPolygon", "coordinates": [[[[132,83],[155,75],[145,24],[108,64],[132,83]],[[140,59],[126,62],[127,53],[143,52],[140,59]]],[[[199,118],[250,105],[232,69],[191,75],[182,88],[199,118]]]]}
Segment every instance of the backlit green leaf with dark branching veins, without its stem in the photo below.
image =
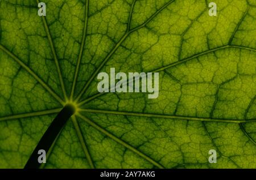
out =
{"type": "Polygon", "coordinates": [[[68,102],[42,168],[256,167],[256,1],[44,2],[0,1],[0,168],[68,102]],[[111,67],[159,72],[159,97],[98,93],[111,67]]]}

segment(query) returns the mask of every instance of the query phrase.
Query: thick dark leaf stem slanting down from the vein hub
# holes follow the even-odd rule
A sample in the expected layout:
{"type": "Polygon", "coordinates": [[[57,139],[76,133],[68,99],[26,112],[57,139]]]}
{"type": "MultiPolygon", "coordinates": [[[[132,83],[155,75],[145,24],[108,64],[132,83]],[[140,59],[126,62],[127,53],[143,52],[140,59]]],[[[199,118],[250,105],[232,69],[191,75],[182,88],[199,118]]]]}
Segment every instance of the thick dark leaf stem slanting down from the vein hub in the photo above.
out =
{"type": "Polygon", "coordinates": [[[60,111],[60,113],[53,119],[51,125],[47,128],[46,132],[44,132],[43,137],[40,139],[38,145],[34,149],[32,155],[30,156],[27,164],[24,166],[24,169],[38,169],[40,168],[40,163],[38,162],[38,151],[43,149],[47,152],[51,147],[52,143],[56,139],[60,130],[64,127],[65,123],[68,119],[75,113],[75,107],[71,104],[67,104],[60,111]]]}

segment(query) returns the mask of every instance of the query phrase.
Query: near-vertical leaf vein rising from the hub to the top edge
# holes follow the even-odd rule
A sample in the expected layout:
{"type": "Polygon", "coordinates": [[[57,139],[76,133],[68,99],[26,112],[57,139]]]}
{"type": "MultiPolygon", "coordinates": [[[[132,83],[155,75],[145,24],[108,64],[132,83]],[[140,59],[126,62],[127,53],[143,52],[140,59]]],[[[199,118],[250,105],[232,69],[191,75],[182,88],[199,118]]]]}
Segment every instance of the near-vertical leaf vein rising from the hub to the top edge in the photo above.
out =
{"type": "Polygon", "coordinates": [[[79,52],[79,58],[77,60],[75,76],[74,76],[73,83],[72,83],[72,90],[71,90],[71,95],[70,95],[71,100],[73,99],[73,95],[74,95],[74,92],[75,92],[77,76],[78,76],[78,73],[79,73],[80,63],[81,63],[81,59],[82,59],[82,53],[84,52],[87,25],[88,25],[88,13],[89,13],[89,0],[86,0],[86,2],[85,2],[84,32],[82,33],[82,42],[81,42],[81,47],[80,47],[80,52],[79,52]]]}

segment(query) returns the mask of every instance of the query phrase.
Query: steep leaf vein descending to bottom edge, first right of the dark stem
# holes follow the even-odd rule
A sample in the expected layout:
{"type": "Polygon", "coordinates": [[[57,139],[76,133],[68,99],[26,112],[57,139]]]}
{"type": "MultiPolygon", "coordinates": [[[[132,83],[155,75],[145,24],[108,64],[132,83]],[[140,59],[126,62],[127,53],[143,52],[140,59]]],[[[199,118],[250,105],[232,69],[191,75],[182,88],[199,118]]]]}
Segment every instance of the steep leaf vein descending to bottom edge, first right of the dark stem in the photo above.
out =
{"type": "Polygon", "coordinates": [[[72,122],[73,122],[73,125],[75,126],[77,137],[79,138],[80,144],[82,146],[82,150],[85,153],[85,157],[86,157],[87,161],[89,162],[90,168],[95,168],[93,161],[92,161],[92,157],[90,156],[89,150],[85,143],[84,136],[82,136],[82,132],[80,130],[79,123],[77,122],[77,119],[75,116],[72,117],[72,122]]]}

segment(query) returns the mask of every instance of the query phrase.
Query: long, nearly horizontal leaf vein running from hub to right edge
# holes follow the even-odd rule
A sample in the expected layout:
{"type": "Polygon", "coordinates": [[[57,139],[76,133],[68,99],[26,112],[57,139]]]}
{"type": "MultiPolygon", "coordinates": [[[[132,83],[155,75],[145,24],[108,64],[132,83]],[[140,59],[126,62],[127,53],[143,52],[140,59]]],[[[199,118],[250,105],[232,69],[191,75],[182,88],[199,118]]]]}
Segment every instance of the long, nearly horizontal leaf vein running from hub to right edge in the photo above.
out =
{"type": "Polygon", "coordinates": [[[114,110],[98,110],[98,109],[80,109],[80,112],[101,113],[101,114],[115,114],[115,115],[130,115],[130,116],[148,117],[148,118],[179,119],[179,120],[185,120],[185,121],[208,121],[208,122],[229,122],[229,123],[256,122],[256,119],[251,119],[251,120],[233,120],[233,119],[196,118],[196,117],[185,117],[185,116],[179,116],[179,115],[119,112],[119,111],[114,111],[114,110]]]}

